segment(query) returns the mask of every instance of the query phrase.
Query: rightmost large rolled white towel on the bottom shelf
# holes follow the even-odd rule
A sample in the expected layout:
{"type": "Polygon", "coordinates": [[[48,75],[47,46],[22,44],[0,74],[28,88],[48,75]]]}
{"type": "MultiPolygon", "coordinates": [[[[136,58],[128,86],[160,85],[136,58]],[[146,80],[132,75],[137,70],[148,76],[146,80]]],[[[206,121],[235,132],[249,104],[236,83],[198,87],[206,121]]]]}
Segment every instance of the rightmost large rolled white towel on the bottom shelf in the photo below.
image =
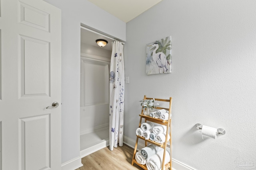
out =
{"type": "MultiPolygon", "coordinates": [[[[146,161],[146,166],[148,170],[160,170],[162,168],[163,158],[164,150],[160,150],[159,152],[157,152],[157,154],[151,156],[146,161]]],[[[170,162],[170,150],[168,150],[167,148],[165,152],[164,164],[167,164],[168,162],[170,162]]]]}

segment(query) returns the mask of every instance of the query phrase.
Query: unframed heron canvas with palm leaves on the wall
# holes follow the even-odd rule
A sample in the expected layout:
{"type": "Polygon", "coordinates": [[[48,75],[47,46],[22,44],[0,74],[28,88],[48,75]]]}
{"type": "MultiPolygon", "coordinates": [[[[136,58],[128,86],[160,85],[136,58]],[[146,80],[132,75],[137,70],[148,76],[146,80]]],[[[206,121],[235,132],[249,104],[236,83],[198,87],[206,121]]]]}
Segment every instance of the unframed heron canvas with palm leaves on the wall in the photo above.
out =
{"type": "Polygon", "coordinates": [[[146,74],[170,73],[172,69],[172,37],[147,44],[146,74]]]}

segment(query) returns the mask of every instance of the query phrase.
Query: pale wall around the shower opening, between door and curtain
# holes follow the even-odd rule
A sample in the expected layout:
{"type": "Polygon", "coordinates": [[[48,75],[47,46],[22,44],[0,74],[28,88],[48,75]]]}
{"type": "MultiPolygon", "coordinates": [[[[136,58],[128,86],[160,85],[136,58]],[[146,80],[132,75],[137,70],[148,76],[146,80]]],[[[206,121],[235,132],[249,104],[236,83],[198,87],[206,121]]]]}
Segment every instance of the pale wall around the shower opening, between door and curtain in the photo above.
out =
{"type": "Polygon", "coordinates": [[[125,41],[126,23],[87,0],[45,1],[62,10],[62,163],[64,163],[80,155],[80,24],[83,23],[125,41]]]}

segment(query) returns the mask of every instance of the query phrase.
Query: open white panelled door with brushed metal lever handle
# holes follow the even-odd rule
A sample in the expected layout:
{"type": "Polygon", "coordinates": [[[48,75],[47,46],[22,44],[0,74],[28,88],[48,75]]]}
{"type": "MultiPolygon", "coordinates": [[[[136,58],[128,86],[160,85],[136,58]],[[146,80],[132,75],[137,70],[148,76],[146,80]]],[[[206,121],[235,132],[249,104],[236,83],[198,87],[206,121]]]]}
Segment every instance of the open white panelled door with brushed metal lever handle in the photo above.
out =
{"type": "Polygon", "coordinates": [[[60,170],[61,11],[43,0],[0,7],[1,170],[60,170]]]}

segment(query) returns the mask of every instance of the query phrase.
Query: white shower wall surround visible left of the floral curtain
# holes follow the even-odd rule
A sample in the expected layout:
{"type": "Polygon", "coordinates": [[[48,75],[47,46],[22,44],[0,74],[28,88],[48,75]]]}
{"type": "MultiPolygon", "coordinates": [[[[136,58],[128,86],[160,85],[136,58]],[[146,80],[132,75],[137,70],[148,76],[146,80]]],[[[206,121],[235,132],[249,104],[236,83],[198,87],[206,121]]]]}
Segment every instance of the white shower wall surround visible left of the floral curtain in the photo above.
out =
{"type": "Polygon", "coordinates": [[[109,126],[111,51],[81,43],[80,134],[109,126]]]}

